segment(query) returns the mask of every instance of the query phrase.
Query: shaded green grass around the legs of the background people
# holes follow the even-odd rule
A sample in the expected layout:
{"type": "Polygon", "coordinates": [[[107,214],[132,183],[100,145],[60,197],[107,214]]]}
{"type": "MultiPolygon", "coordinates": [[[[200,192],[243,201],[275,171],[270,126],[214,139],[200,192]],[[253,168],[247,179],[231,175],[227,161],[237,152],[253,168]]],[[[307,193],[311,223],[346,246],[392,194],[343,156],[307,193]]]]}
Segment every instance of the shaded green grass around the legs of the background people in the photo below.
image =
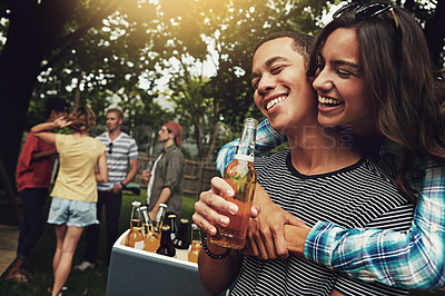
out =
{"type": "MultiPolygon", "coordinates": [[[[146,191],[141,190],[140,196],[127,195],[122,197],[121,215],[119,220],[119,230],[123,233],[129,228],[129,219],[131,213],[131,201],[140,200],[145,203],[146,191]]],[[[46,206],[46,213],[49,208],[48,199],[46,206]]],[[[182,211],[180,217],[186,217],[191,224],[191,216],[195,211],[194,205],[197,201],[195,197],[184,197],[182,199],[182,211]]],[[[105,221],[105,217],[102,218],[105,221]]],[[[63,296],[69,295],[106,295],[108,267],[103,263],[106,257],[106,229],[101,225],[100,238],[99,238],[99,254],[98,262],[93,269],[87,272],[78,272],[71,269],[71,274],[68,277],[66,286],[68,292],[63,293],[63,296]]],[[[0,295],[50,295],[47,288],[52,286],[52,255],[56,248],[56,234],[51,225],[46,224],[44,233],[30,255],[26,268],[32,273],[31,283],[29,285],[17,284],[8,280],[4,276],[0,278],[0,295]]],[[[77,247],[72,268],[82,260],[85,249],[85,237],[82,237],[77,247]]],[[[141,285],[144,285],[141,283],[141,285]]]]}

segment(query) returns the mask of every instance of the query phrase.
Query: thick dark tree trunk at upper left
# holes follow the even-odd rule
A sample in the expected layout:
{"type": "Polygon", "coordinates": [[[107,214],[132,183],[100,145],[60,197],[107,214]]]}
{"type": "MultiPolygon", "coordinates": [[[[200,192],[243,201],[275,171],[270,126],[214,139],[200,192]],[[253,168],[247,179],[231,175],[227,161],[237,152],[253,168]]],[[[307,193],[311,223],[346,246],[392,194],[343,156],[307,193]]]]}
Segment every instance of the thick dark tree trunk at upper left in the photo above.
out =
{"type": "Polygon", "coordinates": [[[11,9],[7,42],[0,55],[0,158],[14,184],[24,120],[42,59],[78,0],[18,0],[11,9]]]}

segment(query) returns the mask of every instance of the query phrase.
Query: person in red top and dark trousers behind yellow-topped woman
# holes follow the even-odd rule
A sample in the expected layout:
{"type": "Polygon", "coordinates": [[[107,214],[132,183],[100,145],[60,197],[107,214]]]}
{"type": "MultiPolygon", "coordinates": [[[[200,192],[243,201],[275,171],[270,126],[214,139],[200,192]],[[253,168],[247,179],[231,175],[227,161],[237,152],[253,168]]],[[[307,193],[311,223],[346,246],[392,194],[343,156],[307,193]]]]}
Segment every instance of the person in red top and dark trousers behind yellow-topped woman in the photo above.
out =
{"type": "MultiPolygon", "coordinates": [[[[60,98],[48,98],[47,122],[67,115],[67,102],[60,98]]],[[[17,164],[17,190],[23,208],[23,224],[20,228],[17,258],[9,269],[8,278],[19,283],[29,282],[29,272],[23,263],[43,233],[43,206],[51,181],[56,148],[37,139],[30,132],[17,164]]]]}

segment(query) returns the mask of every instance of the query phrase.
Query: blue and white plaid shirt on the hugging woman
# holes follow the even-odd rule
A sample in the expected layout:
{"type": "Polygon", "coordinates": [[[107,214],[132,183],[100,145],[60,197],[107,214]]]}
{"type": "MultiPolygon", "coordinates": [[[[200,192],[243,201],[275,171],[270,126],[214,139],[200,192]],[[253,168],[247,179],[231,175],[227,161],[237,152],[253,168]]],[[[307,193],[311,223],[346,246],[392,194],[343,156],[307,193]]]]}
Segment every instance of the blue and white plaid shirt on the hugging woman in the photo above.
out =
{"type": "MultiPolygon", "coordinates": [[[[267,120],[258,125],[256,149],[267,151],[286,141],[267,120]]],[[[237,140],[218,152],[221,172],[234,159],[237,140]]],[[[382,147],[383,168],[394,177],[398,147],[382,147]]],[[[413,226],[406,233],[344,229],[318,221],[306,238],[305,257],[366,282],[405,288],[439,288],[445,284],[445,167],[416,164],[412,185],[419,188],[413,226]]]]}

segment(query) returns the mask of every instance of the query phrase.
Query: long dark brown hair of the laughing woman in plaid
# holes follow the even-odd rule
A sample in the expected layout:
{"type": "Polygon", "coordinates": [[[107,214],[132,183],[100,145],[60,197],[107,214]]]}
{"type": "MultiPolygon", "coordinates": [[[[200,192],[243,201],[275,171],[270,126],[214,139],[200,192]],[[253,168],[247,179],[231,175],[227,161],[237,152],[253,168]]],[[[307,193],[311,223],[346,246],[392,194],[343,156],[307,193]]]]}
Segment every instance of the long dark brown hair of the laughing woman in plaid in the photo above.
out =
{"type": "Polygon", "coordinates": [[[424,32],[403,8],[356,20],[355,11],[329,22],[315,40],[308,76],[317,71],[317,57],[328,36],[338,28],[354,29],[359,42],[360,65],[378,106],[379,131],[400,147],[395,185],[414,198],[407,176],[415,160],[445,162],[444,85],[434,81],[424,32]],[[395,21],[397,20],[397,22],[395,21]]]}

